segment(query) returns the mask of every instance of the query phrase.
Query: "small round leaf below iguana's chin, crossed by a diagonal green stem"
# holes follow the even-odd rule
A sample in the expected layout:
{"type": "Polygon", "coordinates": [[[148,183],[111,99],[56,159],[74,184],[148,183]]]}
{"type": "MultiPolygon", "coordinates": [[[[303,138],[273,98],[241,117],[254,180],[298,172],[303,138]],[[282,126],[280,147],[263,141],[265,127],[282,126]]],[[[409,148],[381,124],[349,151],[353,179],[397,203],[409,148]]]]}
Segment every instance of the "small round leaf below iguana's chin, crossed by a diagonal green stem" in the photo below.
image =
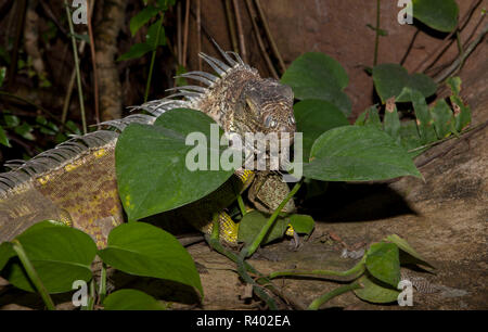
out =
{"type": "MultiPolygon", "coordinates": [[[[262,226],[267,220],[268,216],[266,216],[265,214],[258,210],[249,212],[242,218],[241,222],[239,224],[237,240],[244,243],[252,243],[260,232],[262,226]]],[[[283,238],[287,227],[288,226],[286,219],[280,217],[277,218],[273,227],[262,240],[262,244],[283,238]]]]}

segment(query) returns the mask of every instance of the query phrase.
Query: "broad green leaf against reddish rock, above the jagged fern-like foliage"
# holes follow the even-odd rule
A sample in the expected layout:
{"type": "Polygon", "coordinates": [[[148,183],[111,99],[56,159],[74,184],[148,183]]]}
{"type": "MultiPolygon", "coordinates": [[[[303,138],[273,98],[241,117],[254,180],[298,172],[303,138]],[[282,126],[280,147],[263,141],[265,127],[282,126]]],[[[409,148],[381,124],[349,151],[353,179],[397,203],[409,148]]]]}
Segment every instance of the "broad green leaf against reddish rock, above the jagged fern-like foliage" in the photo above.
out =
{"type": "Polygon", "coordinates": [[[431,97],[437,89],[436,84],[428,76],[424,74],[409,75],[406,68],[394,63],[374,66],[373,81],[383,103],[391,97],[396,98],[396,102],[411,101],[403,88],[419,90],[424,98],[431,97]]]}

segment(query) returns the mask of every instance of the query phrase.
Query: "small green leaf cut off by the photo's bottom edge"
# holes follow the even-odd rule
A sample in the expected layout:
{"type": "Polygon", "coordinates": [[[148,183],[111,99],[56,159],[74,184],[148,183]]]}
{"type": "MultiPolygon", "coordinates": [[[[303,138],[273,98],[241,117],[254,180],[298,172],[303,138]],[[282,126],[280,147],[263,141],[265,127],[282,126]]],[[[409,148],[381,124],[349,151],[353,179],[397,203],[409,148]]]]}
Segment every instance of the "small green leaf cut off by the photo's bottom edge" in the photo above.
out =
{"type": "Polygon", "coordinates": [[[103,302],[105,310],[165,310],[153,296],[137,290],[119,290],[103,302]]]}

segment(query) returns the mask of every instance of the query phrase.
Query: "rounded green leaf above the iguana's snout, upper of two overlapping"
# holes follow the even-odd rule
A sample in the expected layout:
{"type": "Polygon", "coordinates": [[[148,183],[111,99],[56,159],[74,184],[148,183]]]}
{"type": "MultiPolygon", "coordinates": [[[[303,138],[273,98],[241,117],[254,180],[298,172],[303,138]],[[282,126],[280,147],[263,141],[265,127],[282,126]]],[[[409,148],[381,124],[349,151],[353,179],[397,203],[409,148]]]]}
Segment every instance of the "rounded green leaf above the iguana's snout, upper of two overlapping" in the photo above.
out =
{"type": "Polygon", "coordinates": [[[323,53],[305,53],[286,69],[281,81],[292,87],[296,99],[320,99],[336,105],[346,116],[351,102],[343,92],[349,78],[343,66],[323,53]]]}

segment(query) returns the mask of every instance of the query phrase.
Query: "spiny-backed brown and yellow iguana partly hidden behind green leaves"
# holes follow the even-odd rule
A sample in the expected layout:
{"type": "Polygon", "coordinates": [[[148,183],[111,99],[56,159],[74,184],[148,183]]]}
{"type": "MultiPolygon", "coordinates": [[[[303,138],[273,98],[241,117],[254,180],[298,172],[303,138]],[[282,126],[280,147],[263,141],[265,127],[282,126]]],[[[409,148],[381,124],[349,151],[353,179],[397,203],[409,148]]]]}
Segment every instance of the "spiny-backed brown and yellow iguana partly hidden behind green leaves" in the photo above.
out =
{"type": "MultiPolygon", "coordinates": [[[[103,247],[108,232],[124,222],[114,152],[118,133],[131,123],[153,124],[168,110],[187,107],[207,114],[226,132],[241,136],[245,132],[293,133],[295,120],[291,88],[273,79],[262,79],[237,54],[218,49],[226,63],[201,54],[218,76],[204,72],[181,75],[206,87],[177,88],[176,94],[134,107],[149,115],[134,114],[104,123],[116,130],[77,136],[28,162],[5,164],[12,170],[0,174],[0,242],[13,239],[35,222],[52,219],[81,229],[95,240],[99,247],[103,247]],[[177,100],[177,97],[183,99],[177,100]]],[[[278,176],[262,175],[265,173],[259,176],[259,188],[251,190],[251,199],[257,202],[257,208],[268,212],[279,205],[288,188],[278,176]]],[[[211,229],[211,208],[202,208],[206,206],[203,203],[217,197],[213,208],[223,209],[232,196],[229,190],[235,190],[237,183],[237,190],[243,191],[253,178],[254,173],[240,169],[213,197],[179,208],[176,213],[208,232],[211,229]]],[[[294,209],[293,202],[285,209],[294,209]]],[[[229,219],[221,215],[221,230],[224,232],[229,219]]],[[[232,237],[227,240],[235,240],[232,237]]]]}

